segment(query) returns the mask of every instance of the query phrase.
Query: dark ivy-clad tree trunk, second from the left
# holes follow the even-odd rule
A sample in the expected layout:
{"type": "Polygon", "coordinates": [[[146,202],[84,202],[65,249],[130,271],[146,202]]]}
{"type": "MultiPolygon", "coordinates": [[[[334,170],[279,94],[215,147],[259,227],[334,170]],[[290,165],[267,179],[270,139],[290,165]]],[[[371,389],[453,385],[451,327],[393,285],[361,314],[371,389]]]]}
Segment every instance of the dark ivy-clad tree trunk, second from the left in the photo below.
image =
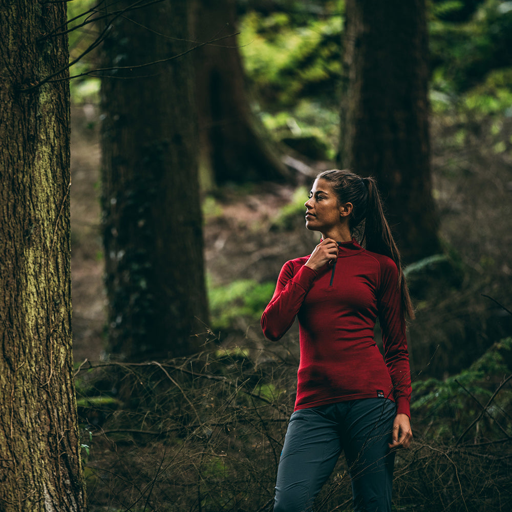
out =
{"type": "Polygon", "coordinates": [[[207,323],[196,110],[186,0],[110,20],[102,78],[102,208],[109,345],[118,358],[196,351],[207,323]]]}

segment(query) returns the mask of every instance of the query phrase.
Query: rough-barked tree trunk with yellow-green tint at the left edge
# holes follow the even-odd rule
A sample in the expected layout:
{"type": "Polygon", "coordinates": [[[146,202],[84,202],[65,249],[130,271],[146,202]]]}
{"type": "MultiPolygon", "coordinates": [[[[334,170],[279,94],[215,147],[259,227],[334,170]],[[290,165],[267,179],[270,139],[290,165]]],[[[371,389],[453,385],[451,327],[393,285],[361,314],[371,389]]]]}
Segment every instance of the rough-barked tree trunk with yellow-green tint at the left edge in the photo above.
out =
{"type": "Polygon", "coordinates": [[[86,509],[71,347],[66,4],[0,2],[0,510],[86,509]],[[34,87],[35,86],[35,87],[34,87]]]}

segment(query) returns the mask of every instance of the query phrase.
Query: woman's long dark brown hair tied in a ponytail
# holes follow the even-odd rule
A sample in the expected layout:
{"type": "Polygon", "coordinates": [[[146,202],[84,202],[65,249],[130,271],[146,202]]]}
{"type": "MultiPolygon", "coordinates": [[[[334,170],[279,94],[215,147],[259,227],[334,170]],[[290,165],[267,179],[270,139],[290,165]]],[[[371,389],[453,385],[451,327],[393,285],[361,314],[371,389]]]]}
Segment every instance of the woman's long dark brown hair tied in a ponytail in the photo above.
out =
{"type": "Polygon", "coordinates": [[[360,239],[367,250],[391,258],[398,268],[398,287],[403,311],[414,318],[414,308],[403,275],[400,252],[393,240],[391,228],[384,214],[382,200],[374,178],[361,178],[350,170],[331,169],[319,173],[316,179],[328,181],[340,204],[352,203],[349,218],[350,232],[360,239]]]}

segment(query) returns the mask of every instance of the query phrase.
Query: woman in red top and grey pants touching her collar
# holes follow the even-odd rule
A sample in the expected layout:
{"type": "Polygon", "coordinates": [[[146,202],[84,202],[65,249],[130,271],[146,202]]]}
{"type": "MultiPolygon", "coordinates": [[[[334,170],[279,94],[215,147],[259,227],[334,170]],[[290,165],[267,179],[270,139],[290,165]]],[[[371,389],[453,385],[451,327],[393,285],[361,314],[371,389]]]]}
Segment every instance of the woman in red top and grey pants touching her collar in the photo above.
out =
{"type": "Polygon", "coordinates": [[[320,173],[305,206],[306,228],[322,240],[283,266],[261,319],[271,340],[295,316],[300,325],[297,397],[274,512],[310,510],[342,451],[354,510],[390,511],[394,450],[412,440],[404,313],[414,313],[400,255],[372,178],[320,173]],[[361,232],[359,245],[353,237],[361,232]],[[383,357],[373,338],[377,317],[383,357]]]}

